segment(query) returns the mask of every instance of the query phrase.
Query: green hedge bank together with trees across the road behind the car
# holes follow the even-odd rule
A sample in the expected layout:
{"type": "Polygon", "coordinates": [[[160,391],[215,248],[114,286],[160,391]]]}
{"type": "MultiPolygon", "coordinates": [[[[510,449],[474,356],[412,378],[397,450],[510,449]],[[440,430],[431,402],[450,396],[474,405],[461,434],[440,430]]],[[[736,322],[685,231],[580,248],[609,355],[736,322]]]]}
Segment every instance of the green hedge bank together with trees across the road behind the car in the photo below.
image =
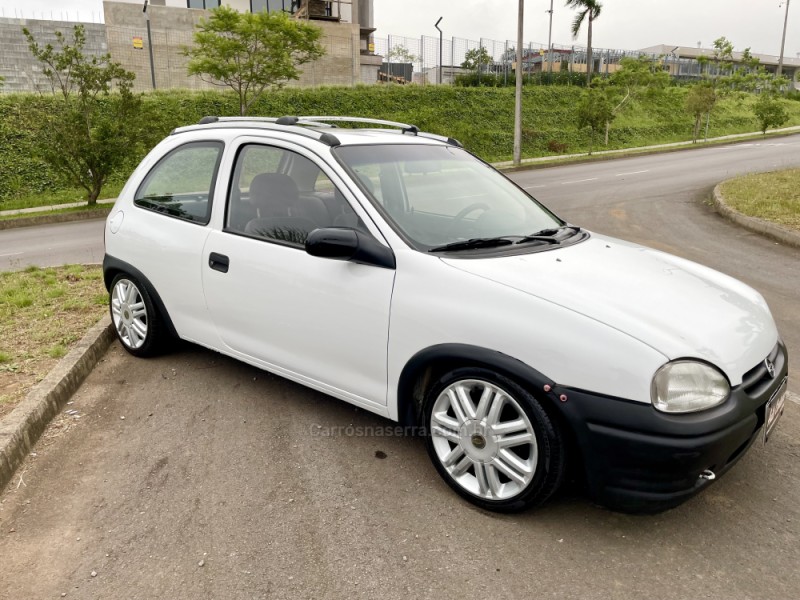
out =
{"type": "MultiPolygon", "coordinates": [[[[586,25],[591,65],[592,26],[603,5],[598,0],[566,0],[566,5],[576,11],[573,35],[586,25]]],[[[188,74],[217,91],[134,94],[132,72],[110,54],[84,53],[82,25],[71,35],[56,31],[54,44],[41,44],[26,28],[23,33],[52,94],[0,96],[0,210],[67,203],[79,194],[91,207],[101,197],[114,197],[159,140],[207,115],[376,117],[455,137],[487,161],[512,154],[514,90],[483,87],[491,77],[482,72],[491,75],[496,66],[484,47],[470,49],[461,65],[474,71],[478,87],[457,81],[452,87],[284,89],[300,77],[304,63],[324,54],[321,30],[283,13],[240,13],[223,6],[201,19],[193,45],[184,50],[188,74]]],[[[610,75],[594,78],[590,67],[581,87],[569,85],[577,82],[570,78],[568,85],[529,81],[522,155],[591,154],[598,146],[696,142],[701,129],[708,138],[800,124],[800,102],[784,97],[788,80],[767,72],[748,48],[734,63],[733,48],[727,38],[718,38],[713,54],[698,59],[701,74],[689,86],[671,78],[663,56],[625,57],[610,75]]],[[[402,46],[390,49],[387,58],[417,59],[402,46]]],[[[493,77],[499,81],[497,73],[493,77]]],[[[504,85],[509,79],[513,85],[513,75],[502,76],[504,85]]]]}

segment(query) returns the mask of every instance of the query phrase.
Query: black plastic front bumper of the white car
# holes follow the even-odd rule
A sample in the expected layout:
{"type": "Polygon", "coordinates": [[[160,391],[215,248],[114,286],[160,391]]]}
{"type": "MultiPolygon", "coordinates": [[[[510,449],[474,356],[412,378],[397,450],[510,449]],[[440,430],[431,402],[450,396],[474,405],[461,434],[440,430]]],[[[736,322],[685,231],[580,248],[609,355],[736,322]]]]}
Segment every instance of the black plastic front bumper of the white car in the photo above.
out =
{"type": "Polygon", "coordinates": [[[613,509],[657,512],[708,486],[704,471],[722,475],[758,437],[766,403],[788,374],[783,342],[770,358],[774,377],[764,369],[725,403],[699,413],[670,415],[650,404],[558,390],[567,396],[559,408],[575,433],[592,498],[613,509]]]}

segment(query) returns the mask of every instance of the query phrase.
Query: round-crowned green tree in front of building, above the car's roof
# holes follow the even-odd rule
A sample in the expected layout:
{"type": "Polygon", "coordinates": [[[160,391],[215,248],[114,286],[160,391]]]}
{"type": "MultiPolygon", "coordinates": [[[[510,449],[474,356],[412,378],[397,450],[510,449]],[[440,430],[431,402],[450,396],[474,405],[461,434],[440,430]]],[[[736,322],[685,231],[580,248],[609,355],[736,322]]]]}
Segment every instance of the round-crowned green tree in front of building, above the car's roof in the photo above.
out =
{"type": "Polygon", "coordinates": [[[185,48],[188,72],[203,81],[229,87],[239,96],[239,113],[246,115],[268,88],[299,79],[299,65],[325,51],[322,30],[283,12],[240,13],[228,6],[211,11],[185,48]]]}

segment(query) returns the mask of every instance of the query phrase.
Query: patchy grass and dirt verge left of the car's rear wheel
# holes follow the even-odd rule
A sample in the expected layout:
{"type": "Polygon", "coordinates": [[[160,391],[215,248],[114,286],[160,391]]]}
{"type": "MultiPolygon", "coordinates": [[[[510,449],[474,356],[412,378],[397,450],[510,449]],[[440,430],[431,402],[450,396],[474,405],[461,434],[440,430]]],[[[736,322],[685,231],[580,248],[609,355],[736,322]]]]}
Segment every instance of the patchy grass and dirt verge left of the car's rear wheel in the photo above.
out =
{"type": "Polygon", "coordinates": [[[0,416],[107,310],[99,266],[0,273],[0,416]]]}

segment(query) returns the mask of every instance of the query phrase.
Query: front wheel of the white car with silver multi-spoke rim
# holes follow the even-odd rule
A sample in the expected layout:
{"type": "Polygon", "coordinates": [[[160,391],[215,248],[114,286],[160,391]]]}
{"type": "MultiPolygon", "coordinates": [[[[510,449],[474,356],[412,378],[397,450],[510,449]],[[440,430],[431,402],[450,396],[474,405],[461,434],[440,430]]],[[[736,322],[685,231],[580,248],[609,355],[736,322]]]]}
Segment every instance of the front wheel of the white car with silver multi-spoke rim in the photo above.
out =
{"type": "Polygon", "coordinates": [[[459,495],[495,512],[538,506],[561,485],[566,439],[530,393],[484,368],[450,371],[424,405],[428,455],[459,495]]]}

